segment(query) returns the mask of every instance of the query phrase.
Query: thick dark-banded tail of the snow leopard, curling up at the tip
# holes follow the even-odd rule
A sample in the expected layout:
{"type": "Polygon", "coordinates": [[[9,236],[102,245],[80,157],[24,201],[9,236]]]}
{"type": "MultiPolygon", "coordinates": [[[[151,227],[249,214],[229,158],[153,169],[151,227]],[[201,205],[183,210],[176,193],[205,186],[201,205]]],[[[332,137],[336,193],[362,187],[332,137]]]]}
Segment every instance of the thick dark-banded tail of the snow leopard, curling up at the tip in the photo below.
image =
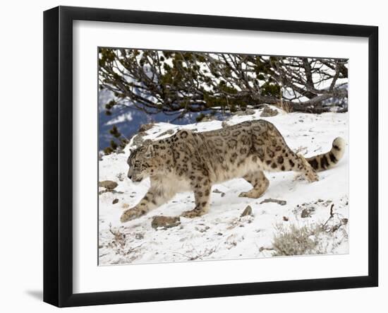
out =
{"type": "Polygon", "coordinates": [[[337,137],[333,141],[332,150],[329,150],[327,153],[322,153],[305,159],[317,172],[328,170],[339,163],[339,160],[341,160],[344,155],[345,146],[345,140],[341,137],[337,137]]]}

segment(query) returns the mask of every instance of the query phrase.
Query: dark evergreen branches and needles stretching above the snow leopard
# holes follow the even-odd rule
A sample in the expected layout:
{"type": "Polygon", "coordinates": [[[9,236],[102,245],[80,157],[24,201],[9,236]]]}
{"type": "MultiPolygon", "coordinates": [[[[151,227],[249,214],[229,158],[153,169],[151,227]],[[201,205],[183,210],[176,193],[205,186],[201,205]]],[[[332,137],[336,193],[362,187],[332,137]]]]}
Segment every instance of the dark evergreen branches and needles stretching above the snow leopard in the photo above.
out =
{"type": "Polygon", "coordinates": [[[99,49],[99,88],[115,96],[105,106],[107,114],[114,107],[135,107],[183,117],[263,103],[325,112],[323,101],[347,98],[338,83],[347,77],[346,59],[99,49]],[[330,88],[322,88],[327,82],[330,88]]]}

